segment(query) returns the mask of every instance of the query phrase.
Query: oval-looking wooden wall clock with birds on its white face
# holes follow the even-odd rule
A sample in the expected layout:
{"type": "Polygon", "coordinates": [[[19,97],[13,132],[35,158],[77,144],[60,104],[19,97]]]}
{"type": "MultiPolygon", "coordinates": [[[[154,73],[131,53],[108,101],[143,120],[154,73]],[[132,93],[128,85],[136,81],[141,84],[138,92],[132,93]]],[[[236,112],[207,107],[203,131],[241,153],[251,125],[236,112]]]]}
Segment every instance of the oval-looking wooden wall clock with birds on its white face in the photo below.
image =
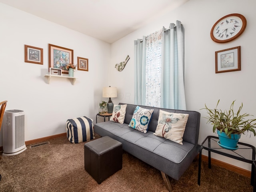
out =
{"type": "Polygon", "coordinates": [[[246,18],[241,14],[229,14],[220,18],[211,30],[211,38],[217,43],[226,43],[238,38],[246,28],[246,18]]]}

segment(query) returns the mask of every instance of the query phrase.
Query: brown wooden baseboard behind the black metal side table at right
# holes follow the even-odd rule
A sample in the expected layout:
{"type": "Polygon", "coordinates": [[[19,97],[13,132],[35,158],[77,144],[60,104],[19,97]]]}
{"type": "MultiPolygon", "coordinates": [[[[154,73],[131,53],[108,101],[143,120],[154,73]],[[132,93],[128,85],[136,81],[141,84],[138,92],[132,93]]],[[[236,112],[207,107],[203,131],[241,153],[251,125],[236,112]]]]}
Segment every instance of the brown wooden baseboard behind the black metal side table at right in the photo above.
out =
{"type": "MultiPolygon", "coordinates": [[[[198,157],[199,157],[199,155],[198,155],[198,157]]],[[[208,162],[208,156],[202,155],[202,160],[208,162]]],[[[223,161],[213,159],[213,158],[211,158],[211,163],[214,165],[220,166],[222,168],[225,168],[227,170],[239,173],[246,177],[251,177],[251,172],[246,169],[243,169],[243,168],[240,168],[240,167],[237,167],[237,166],[234,166],[234,165],[231,165],[231,164],[228,164],[228,163],[225,163],[223,161]]]]}

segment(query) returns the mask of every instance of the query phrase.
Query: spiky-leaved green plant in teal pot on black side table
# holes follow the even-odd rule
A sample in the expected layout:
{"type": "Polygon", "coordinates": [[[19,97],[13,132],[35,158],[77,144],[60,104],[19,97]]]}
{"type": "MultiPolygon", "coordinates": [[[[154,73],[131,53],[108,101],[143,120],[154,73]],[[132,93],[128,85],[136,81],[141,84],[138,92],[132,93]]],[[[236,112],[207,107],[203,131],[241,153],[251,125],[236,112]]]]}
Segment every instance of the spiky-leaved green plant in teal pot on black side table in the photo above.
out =
{"type": "Polygon", "coordinates": [[[256,128],[256,119],[246,119],[250,114],[241,113],[243,103],[238,108],[237,112],[234,112],[234,103],[232,102],[230,108],[228,110],[218,109],[218,104],[214,109],[209,109],[205,104],[205,109],[207,111],[208,116],[204,117],[207,119],[207,124],[213,125],[213,132],[217,130],[217,134],[219,136],[218,144],[223,148],[236,150],[238,149],[237,143],[241,137],[241,134],[245,132],[252,132],[254,136],[256,136],[255,128],[256,128]]]}

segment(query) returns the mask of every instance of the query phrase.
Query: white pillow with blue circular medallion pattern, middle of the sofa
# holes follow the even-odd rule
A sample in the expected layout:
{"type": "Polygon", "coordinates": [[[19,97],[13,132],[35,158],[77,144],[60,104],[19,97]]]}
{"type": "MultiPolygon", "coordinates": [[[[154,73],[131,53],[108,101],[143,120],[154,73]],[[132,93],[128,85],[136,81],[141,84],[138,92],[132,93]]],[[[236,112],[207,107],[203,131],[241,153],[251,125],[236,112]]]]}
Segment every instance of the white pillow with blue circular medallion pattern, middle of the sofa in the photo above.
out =
{"type": "Polygon", "coordinates": [[[131,128],[146,133],[148,131],[148,125],[154,113],[154,109],[144,109],[137,106],[132,115],[132,120],[128,125],[131,128]]]}

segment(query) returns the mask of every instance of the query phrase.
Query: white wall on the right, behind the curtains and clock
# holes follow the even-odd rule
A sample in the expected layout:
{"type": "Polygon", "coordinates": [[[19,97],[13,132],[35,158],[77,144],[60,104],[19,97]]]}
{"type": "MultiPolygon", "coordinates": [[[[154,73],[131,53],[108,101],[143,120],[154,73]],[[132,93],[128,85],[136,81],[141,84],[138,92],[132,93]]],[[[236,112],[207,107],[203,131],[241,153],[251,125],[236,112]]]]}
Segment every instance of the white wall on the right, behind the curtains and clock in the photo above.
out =
{"type": "MultiPolygon", "coordinates": [[[[151,24],[140,28],[128,36],[111,45],[111,60],[108,72],[111,75],[110,84],[117,86],[122,96],[114,103],[133,103],[134,98],[134,40],[143,35],[151,34],[169,23],[180,20],[185,29],[185,92],[187,110],[201,113],[199,144],[212,133],[212,126],[206,124],[202,117],[206,116],[204,104],[214,108],[220,99],[219,106],[228,108],[233,100],[237,106],[243,102],[243,112],[256,116],[254,74],[255,42],[256,42],[256,1],[254,0],[190,0],[179,8],[169,12],[161,18],[156,18],[151,24]],[[244,33],[236,40],[218,44],[210,38],[213,24],[221,17],[239,13],[246,17],[247,26],[244,33]],[[241,71],[215,73],[215,51],[241,46],[241,71]],[[130,60],[122,72],[118,72],[114,65],[123,61],[129,54],[130,60]]],[[[240,142],[256,146],[256,138],[242,135],[240,142]]],[[[203,154],[207,153],[203,150],[203,154]]],[[[234,164],[250,170],[250,164],[231,160],[223,156],[212,154],[213,158],[234,164]]]]}

